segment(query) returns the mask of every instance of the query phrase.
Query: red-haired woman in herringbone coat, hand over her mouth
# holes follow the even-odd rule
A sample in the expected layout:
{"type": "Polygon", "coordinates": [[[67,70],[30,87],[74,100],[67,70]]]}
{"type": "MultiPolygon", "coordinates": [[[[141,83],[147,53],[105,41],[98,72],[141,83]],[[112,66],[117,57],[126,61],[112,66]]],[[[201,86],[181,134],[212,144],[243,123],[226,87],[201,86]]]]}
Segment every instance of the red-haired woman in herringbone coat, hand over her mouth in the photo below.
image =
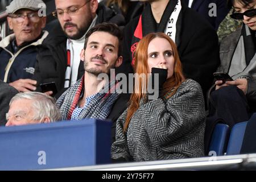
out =
{"type": "Polygon", "coordinates": [[[145,36],[136,49],[135,72],[151,73],[146,81],[158,73],[159,84],[153,84],[153,90],[160,94],[150,100],[152,93],[143,93],[143,83],[135,87],[129,107],[117,121],[112,159],[204,156],[203,93],[196,81],[184,78],[175,43],[163,33],[145,36]]]}

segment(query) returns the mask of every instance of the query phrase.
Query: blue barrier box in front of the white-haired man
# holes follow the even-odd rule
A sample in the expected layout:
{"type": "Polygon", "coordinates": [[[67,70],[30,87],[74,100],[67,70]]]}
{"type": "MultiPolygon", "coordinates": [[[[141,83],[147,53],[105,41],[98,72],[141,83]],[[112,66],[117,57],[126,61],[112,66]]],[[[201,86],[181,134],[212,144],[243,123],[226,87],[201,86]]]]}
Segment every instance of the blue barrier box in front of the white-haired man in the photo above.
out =
{"type": "Polygon", "coordinates": [[[0,170],[110,163],[112,122],[97,119],[0,127],[0,170]]]}

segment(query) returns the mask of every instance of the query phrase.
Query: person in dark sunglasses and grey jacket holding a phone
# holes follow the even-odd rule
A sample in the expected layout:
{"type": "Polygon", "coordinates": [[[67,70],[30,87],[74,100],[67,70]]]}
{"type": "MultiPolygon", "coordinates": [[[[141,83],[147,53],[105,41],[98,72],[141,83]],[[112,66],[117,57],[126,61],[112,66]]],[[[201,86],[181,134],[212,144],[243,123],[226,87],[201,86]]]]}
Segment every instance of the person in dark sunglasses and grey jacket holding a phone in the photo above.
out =
{"type": "Polygon", "coordinates": [[[233,81],[217,80],[210,92],[208,136],[217,122],[232,127],[247,121],[256,111],[256,0],[228,3],[234,9],[230,17],[243,23],[220,43],[221,64],[217,72],[228,73],[233,81]]]}

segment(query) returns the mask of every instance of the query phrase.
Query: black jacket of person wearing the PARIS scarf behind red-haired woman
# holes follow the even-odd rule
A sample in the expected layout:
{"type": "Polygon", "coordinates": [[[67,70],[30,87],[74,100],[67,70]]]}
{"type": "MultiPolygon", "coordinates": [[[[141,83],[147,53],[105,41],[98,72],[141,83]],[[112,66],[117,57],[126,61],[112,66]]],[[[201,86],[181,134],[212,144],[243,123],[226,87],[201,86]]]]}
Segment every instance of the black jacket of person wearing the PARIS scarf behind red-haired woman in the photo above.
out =
{"type": "MultiPolygon", "coordinates": [[[[181,12],[180,44],[177,49],[183,65],[183,72],[185,77],[199,82],[205,95],[212,84],[213,72],[216,71],[220,63],[218,37],[207,20],[194,10],[182,5],[181,12]]],[[[123,64],[117,69],[117,72],[133,72],[130,50],[138,21],[139,17],[133,19],[124,28],[123,64]]],[[[153,22],[155,22],[154,19],[147,19],[146,23],[153,22]]],[[[154,32],[154,30],[146,31],[154,32]]],[[[143,36],[145,36],[144,31],[143,36]]]]}

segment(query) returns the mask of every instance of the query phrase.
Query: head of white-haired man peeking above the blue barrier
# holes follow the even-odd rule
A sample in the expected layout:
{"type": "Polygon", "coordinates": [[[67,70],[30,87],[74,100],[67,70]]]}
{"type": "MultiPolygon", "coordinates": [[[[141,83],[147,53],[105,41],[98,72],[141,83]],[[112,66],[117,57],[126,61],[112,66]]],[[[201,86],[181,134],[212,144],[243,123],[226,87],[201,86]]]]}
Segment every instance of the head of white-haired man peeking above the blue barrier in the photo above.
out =
{"type": "Polygon", "coordinates": [[[49,123],[61,119],[55,99],[40,92],[16,94],[10,101],[5,126],[49,123]]]}

